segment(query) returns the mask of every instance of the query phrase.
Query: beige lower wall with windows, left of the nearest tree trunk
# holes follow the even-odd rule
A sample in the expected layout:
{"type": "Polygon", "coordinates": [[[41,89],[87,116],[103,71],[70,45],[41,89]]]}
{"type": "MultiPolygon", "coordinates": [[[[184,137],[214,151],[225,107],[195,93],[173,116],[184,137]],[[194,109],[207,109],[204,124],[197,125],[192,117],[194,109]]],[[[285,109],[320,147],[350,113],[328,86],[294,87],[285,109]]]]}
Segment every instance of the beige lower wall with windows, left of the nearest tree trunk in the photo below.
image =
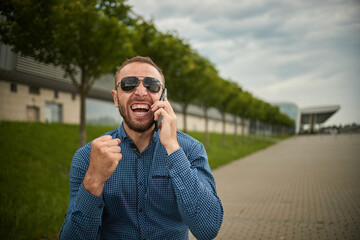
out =
{"type": "Polygon", "coordinates": [[[0,81],[1,120],[76,124],[79,106],[72,93],[0,81]]]}

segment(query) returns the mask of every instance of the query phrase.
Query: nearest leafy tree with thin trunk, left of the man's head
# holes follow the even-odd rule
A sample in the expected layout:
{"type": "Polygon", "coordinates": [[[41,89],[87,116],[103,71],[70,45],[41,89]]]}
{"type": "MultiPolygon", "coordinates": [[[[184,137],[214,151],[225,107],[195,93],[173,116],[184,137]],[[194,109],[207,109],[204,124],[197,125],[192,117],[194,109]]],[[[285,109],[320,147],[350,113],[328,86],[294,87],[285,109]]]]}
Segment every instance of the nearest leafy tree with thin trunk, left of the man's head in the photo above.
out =
{"type": "Polygon", "coordinates": [[[1,41],[23,56],[60,66],[76,87],[80,146],[86,141],[85,99],[91,87],[132,53],[133,20],[124,2],[4,0],[1,5],[1,41]]]}

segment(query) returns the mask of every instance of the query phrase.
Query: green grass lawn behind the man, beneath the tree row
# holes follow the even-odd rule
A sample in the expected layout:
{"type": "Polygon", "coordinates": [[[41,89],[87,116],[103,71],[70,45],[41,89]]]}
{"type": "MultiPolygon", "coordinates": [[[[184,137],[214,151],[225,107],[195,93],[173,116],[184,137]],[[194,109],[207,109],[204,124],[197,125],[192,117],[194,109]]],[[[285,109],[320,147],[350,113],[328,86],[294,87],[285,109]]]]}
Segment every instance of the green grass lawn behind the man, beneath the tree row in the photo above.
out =
{"type": "MultiPolygon", "coordinates": [[[[113,127],[87,126],[88,141],[113,127]]],[[[202,141],[203,133],[190,133],[202,141]]],[[[210,166],[263,149],[273,142],[246,139],[234,145],[210,135],[210,166]]],[[[78,126],[0,122],[0,239],[57,239],[69,195],[69,167],[77,149],[78,126]]]]}

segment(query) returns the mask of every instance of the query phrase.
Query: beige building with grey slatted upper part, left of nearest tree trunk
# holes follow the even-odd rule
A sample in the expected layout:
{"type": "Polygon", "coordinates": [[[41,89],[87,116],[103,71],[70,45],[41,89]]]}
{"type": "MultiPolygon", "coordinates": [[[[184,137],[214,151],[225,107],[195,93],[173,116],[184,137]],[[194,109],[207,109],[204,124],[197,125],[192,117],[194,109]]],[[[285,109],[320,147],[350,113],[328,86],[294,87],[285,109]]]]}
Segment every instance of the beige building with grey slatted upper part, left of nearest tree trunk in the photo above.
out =
{"type": "Polygon", "coordinates": [[[48,70],[0,44],[0,120],[78,122],[79,98],[74,89],[48,70]]]}

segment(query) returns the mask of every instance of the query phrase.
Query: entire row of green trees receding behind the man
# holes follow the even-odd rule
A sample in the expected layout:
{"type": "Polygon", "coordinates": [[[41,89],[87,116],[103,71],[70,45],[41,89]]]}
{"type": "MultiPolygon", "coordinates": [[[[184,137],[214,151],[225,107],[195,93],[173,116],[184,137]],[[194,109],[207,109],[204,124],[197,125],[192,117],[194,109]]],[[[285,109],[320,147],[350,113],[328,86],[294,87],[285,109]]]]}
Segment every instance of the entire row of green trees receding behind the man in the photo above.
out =
{"type": "Polygon", "coordinates": [[[86,139],[85,99],[91,87],[134,55],[149,56],[164,70],[169,96],[182,106],[184,131],[190,104],[203,108],[206,136],[210,107],[221,112],[224,133],[226,113],[293,125],[277,107],[219,76],[214,64],[176,32],[160,32],[152,21],[136,15],[125,0],[3,0],[0,13],[3,43],[23,56],[61,66],[72,80],[81,99],[80,146],[86,139]]]}

